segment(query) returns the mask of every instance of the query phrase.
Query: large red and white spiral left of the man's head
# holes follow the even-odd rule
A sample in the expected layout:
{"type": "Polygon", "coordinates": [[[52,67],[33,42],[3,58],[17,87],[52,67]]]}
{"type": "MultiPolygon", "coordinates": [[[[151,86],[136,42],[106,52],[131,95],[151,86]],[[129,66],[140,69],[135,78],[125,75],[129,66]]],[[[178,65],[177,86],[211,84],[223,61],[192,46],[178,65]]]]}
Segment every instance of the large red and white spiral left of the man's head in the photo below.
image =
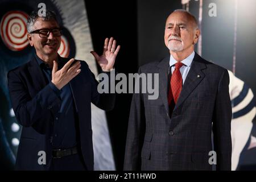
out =
{"type": "Polygon", "coordinates": [[[27,18],[23,11],[9,11],[1,19],[1,38],[12,51],[21,51],[28,46],[27,18]]]}

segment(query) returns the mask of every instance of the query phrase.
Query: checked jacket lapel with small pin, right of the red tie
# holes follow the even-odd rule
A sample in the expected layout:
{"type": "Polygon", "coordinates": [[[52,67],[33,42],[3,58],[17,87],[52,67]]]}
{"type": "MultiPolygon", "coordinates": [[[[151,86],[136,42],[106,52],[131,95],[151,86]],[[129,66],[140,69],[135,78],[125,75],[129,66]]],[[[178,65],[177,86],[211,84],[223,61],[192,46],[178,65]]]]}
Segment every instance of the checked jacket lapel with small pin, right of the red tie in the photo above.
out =
{"type": "Polygon", "coordinates": [[[191,68],[189,69],[188,75],[185,79],[183,88],[180,92],[180,96],[177,100],[177,104],[175,105],[174,110],[177,109],[177,107],[179,107],[185,101],[189,94],[204,79],[205,75],[201,70],[207,67],[202,60],[203,59],[199,55],[197,55],[197,53],[195,53],[191,68]]]}

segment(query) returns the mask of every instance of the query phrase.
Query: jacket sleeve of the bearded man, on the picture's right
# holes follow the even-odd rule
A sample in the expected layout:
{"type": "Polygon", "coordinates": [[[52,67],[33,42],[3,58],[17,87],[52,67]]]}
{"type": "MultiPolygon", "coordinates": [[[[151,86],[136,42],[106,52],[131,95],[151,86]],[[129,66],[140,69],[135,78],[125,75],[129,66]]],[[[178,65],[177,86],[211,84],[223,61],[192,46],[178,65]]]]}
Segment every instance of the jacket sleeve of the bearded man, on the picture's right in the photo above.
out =
{"type": "Polygon", "coordinates": [[[214,151],[217,154],[217,171],[228,171],[231,169],[231,119],[232,107],[229,96],[229,74],[225,69],[218,84],[213,114],[213,141],[214,151]]]}

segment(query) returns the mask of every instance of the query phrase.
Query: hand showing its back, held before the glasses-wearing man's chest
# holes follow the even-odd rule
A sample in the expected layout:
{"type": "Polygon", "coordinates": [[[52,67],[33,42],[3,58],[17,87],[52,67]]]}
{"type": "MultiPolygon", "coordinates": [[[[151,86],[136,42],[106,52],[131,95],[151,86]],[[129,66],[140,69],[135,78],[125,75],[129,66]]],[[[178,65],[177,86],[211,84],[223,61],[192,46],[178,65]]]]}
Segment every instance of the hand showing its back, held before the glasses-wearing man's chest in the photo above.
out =
{"type": "Polygon", "coordinates": [[[59,71],[57,71],[57,62],[53,61],[52,83],[59,90],[81,72],[81,69],[79,69],[81,67],[80,61],[77,61],[75,64],[72,65],[72,67],[70,67],[74,60],[75,59],[73,58],[69,60],[59,71]]]}

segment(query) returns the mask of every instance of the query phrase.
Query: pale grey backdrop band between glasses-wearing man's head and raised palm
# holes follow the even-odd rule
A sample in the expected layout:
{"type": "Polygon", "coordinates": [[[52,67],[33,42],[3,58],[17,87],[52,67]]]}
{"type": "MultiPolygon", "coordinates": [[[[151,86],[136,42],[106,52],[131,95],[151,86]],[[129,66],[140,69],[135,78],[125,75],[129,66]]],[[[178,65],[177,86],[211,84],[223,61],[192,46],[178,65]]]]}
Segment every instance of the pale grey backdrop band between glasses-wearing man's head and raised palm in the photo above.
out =
{"type": "Polygon", "coordinates": [[[75,40],[75,59],[85,60],[94,75],[98,75],[96,61],[90,53],[90,51],[93,50],[93,45],[84,1],[62,0],[53,2],[60,8],[61,12],[63,12],[61,14],[63,24],[75,40]]]}

